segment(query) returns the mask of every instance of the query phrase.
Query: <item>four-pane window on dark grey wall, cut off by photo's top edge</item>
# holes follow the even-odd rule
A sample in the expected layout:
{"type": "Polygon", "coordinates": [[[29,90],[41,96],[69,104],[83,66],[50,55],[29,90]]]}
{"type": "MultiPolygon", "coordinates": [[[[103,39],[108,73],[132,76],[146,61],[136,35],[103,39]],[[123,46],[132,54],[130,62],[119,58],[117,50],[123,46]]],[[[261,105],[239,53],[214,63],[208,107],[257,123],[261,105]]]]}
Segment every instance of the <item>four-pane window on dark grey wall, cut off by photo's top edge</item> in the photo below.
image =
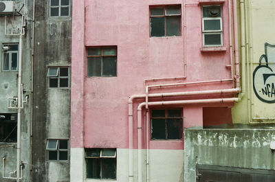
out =
{"type": "Polygon", "coordinates": [[[50,0],[50,16],[69,16],[69,0],[50,0]]]}

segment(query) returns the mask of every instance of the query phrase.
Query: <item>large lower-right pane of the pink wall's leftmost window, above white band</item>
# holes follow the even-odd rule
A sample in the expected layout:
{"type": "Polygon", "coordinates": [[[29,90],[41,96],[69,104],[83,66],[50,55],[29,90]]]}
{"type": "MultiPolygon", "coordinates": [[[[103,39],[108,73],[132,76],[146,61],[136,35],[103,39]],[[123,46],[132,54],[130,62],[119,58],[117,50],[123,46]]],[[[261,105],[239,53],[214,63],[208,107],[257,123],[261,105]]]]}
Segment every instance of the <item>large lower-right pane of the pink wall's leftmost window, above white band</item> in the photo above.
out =
{"type": "Polygon", "coordinates": [[[102,75],[116,76],[116,57],[103,57],[102,59],[102,75]]]}

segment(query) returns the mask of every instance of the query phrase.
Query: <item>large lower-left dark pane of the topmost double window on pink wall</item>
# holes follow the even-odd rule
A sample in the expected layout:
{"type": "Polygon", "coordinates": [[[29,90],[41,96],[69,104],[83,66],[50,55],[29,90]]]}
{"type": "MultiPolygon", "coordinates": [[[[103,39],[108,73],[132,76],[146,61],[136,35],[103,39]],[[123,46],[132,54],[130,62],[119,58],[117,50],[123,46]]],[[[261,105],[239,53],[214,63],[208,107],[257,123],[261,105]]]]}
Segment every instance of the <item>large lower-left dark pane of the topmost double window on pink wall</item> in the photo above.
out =
{"type": "Polygon", "coordinates": [[[151,36],[164,36],[164,17],[151,18],[151,36]]]}

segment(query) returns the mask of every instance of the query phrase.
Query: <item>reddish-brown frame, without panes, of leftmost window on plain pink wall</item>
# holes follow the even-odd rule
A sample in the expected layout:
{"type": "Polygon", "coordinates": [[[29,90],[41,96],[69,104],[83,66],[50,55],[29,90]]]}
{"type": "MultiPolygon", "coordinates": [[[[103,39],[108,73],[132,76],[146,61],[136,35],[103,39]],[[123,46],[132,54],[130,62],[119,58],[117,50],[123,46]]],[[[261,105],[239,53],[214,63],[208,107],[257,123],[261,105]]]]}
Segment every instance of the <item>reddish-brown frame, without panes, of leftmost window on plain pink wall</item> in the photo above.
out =
{"type": "Polygon", "coordinates": [[[94,77],[118,77],[118,46],[89,46],[86,48],[86,66],[87,66],[87,77],[89,78],[94,78],[94,77]],[[88,50],[89,49],[100,49],[100,55],[88,55],[88,50]],[[115,49],[115,54],[113,55],[103,55],[103,49],[107,48],[112,48],[115,49]],[[115,57],[115,76],[108,76],[108,75],[103,75],[103,58],[104,57],[115,57]],[[101,67],[100,67],[100,76],[88,76],[88,58],[100,58],[101,62],[101,67]]]}

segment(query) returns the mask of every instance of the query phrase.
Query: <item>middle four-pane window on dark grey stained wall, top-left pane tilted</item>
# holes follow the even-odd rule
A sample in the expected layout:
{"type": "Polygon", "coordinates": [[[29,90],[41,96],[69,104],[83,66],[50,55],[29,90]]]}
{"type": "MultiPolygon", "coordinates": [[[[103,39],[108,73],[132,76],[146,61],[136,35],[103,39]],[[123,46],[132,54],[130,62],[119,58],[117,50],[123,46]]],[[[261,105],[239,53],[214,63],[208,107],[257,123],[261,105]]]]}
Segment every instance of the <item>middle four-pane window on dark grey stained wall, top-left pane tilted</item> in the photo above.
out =
{"type": "Polygon", "coordinates": [[[50,88],[69,87],[69,68],[68,67],[48,67],[47,77],[50,88]]]}

